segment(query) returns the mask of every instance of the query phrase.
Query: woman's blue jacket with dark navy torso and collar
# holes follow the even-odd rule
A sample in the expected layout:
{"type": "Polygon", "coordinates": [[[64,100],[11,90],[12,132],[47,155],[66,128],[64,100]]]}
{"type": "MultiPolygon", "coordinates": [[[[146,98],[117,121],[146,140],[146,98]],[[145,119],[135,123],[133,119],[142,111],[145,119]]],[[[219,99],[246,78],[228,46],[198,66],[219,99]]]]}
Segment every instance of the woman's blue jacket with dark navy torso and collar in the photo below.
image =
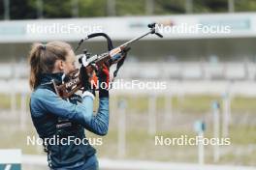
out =
{"type": "MultiPolygon", "coordinates": [[[[46,142],[48,166],[50,168],[70,167],[85,162],[94,156],[95,149],[89,143],[77,145],[74,141],[69,145],[48,144],[48,138],[59,139],[75,136],[84,139],[84,128],[98,135],[105,135],[109,128],[109,98],[99,99],[99,108],[93,114],[93,99],[78,95],[68,100],[59,98],[51,79],[61,82],[63,73],[43,74],[40,85],[31,94],[31,118],[39,136],[46,142]]],[[[86,140],[85,140],[86,141],[86,140]]]]}

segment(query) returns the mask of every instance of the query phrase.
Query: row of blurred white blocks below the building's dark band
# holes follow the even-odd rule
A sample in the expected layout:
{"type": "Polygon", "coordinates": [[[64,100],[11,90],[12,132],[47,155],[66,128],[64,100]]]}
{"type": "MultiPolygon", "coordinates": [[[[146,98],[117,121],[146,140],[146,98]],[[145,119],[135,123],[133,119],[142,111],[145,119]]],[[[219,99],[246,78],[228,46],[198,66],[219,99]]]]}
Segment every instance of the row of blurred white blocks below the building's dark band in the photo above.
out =
{"type": "MultiPolygon", "coordinates": [[[[0,78],[28,77],[26,64],[0,64],[0,78]]],[[[222,80],[254,80],[256,67],[254,63],[125,63],[119,71],[122,78],[140,79],[222,79],[222,80]]]]}

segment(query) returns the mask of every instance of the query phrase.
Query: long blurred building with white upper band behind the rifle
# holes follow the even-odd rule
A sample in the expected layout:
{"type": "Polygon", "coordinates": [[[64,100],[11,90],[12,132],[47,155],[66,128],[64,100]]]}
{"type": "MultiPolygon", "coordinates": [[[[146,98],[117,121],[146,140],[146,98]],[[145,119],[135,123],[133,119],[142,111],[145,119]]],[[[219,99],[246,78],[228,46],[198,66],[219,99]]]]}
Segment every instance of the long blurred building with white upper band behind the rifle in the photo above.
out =
{"type": "MultiPolygon", "coordinates": [[[[59,40],[76,47],[86,35],[105,32],[114,45],[118,45],[144,34],[148,23],[157,22],[164,38],[151,35],[132,45],[127,66],[122,71],[126,78],[253,80],[256,73],[255,16],[252,13],[186,14],[1,21],[0,61],[3,66],[0,76],[27,76],[27,55],[32,42],[59,40]],[[188,30],[214,26],[219,27],[214,33],[188,30]],[[21,71],[14,70],[15,64],[21,71]],[[149,77],[142,73],[142,65],[147,67],[149,77]]],[[[77,53],[84,48],[92,54],[100,54],[107,50],[107,43],[100,38],[91,39],[77,53]]]]}

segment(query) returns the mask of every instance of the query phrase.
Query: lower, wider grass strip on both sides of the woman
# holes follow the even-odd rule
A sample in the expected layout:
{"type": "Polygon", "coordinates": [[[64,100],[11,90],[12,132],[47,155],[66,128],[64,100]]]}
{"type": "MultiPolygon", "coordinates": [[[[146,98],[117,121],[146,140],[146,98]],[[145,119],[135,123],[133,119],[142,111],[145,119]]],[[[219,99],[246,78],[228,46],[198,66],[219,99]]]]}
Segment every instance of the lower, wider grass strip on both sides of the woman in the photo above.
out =
{"type": "MultiPolygon", "coordinates": [[[[112,125],[111,125],[112,126],[112,125]]],[[[25,130],[14,128],[12,125],[3,123],[0,126],[1,142],[0,148],[11,149],[20,148],[23,154],[43,154],[43,147],[27,146],[26,136],[36,135],[35,129],[32,125],[28,125],[25,130]],[[8,130],[9,129],[9,130],[8,130]]],[[[249,149],[248,146],[256,143],[255,127],[231,127],[230,138],[231,145],[220,147],[220,150],[229,149],[220,157],[221,164],[240,164],[240,165],[256,165],[256,149],[249,149]],[[237,151],[244,152],[239,155],[235,154],[237,151]],[[248,151],[248,152],[246,152],[248,151]]],[[[91,132],[86,132],[87,137],[99,138],[91,132]]],[[[156,135],[164,136],[164,138],[177,138],[181,135],[187,135],[188,138],[195,137],[196,133],[187,128],[187,130],[168,130],[158,132],[156,135]]],[[[212,137],[211,131],[206,131],[206,137],[212,137]]],[[[97,155],[100,157],[109,158],[129,158],[129,159],[146,159],[146,160],[160,160],[160,161],[176,161],[176,162],[197,162],[197,146],[156,146],[155,135],[148,134],[145,130],[127,129],[126,132],[126,154],[123,157],[118,156],[118,137],[116,128],[111,128],[106,136],[103,136],[103,145],[94,146],[97,149],[97,155]]],[[[206,162],[213,163],[212,146],[206,146],[206,162]]]]}

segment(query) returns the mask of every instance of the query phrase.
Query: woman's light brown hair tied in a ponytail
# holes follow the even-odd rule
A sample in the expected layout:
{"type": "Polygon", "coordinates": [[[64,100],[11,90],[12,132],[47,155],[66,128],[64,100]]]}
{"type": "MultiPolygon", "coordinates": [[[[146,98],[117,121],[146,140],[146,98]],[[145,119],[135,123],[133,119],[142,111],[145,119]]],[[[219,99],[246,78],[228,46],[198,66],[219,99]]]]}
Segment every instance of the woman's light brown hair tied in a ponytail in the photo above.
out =
{"type": "Polygon", "coordinates": [[[65,61],[71,49],[67,42],[34,43],[29,53],[30,88],[34,90],[39,85],[42,73],[53,71],[56,60],[65,61]]]}

